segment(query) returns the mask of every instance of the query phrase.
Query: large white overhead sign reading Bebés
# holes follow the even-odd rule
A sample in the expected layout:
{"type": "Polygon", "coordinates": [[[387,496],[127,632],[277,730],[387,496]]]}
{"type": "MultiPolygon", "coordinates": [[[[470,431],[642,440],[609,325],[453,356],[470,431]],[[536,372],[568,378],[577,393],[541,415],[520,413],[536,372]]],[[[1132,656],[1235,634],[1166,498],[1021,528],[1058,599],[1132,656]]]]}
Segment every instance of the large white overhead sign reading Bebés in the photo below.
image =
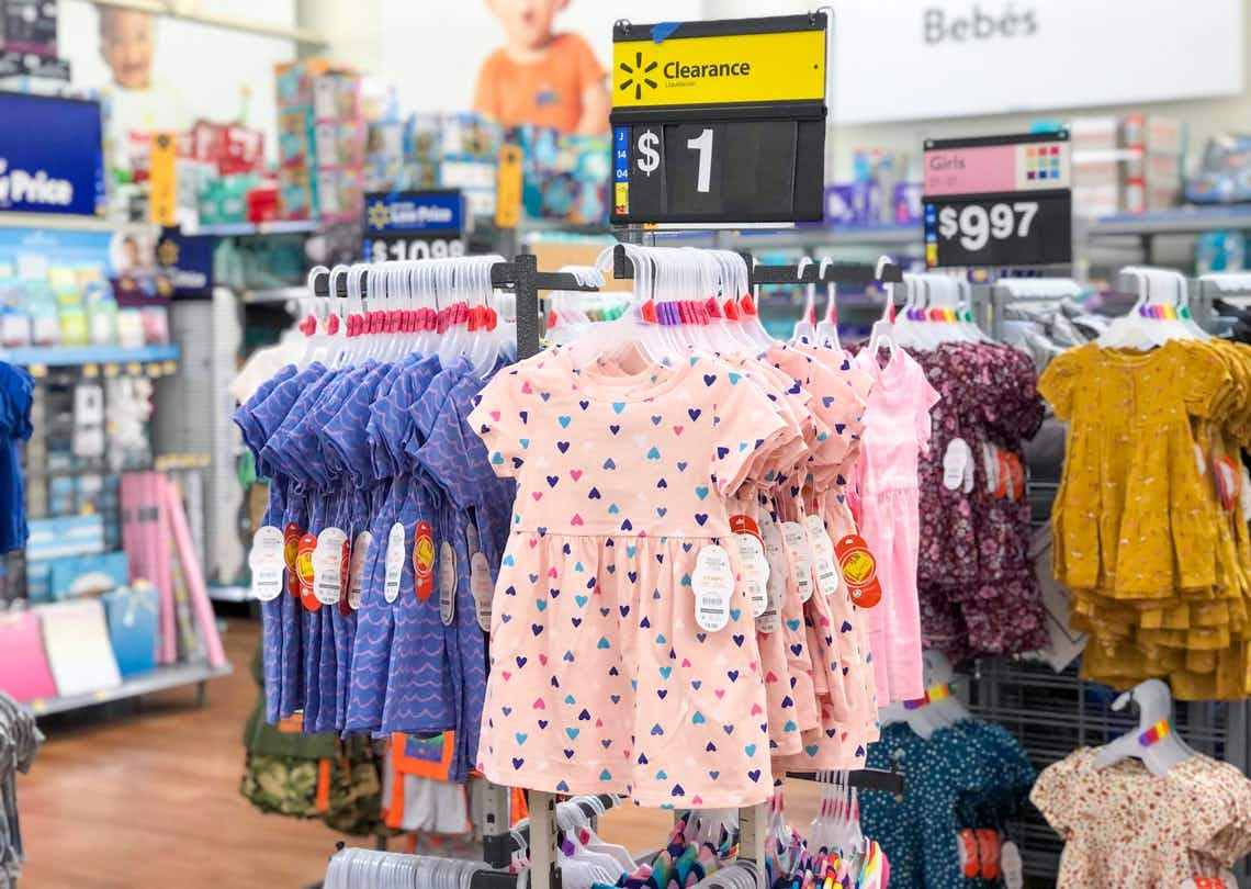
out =
{"type": "Polygon", "coordinates": [[[834,0],[841,124],[1242,91],[1242,0],[834,0]]]}

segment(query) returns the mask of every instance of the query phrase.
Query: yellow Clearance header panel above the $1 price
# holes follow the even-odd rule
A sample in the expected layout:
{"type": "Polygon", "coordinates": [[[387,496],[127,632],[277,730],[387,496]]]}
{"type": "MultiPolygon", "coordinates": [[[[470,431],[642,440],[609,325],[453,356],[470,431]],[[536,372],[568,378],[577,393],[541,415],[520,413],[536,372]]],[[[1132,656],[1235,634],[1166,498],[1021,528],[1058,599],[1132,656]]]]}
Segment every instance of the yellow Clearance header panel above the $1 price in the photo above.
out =
{"type": "Polygon", "coordinates": [[[826,96],[826,33],[613,44],[613,106],[721,105],[826,96]]]}

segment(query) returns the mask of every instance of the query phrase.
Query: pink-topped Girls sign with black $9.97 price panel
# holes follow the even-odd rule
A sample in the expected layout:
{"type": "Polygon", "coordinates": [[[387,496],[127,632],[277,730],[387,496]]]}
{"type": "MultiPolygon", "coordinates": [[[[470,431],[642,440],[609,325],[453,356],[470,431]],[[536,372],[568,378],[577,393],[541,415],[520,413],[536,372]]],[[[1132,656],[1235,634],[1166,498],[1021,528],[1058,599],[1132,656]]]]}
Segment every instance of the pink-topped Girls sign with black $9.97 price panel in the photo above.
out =
{"type": "Polygon", "coordinates": [[[1072,261],[1068,134],[927,141],[926,265],[1072,261]]]}

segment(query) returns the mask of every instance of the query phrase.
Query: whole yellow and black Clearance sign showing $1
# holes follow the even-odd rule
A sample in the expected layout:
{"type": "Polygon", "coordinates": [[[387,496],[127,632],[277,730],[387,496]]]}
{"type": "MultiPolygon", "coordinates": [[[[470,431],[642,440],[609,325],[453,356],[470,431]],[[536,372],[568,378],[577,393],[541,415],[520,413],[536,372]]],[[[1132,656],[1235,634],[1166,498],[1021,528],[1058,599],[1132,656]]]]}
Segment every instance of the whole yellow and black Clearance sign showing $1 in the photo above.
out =
{"type": "Polygon", "coordinates": [[[816,221],[826,15],[613,29],[612,221],[816,221]]]}

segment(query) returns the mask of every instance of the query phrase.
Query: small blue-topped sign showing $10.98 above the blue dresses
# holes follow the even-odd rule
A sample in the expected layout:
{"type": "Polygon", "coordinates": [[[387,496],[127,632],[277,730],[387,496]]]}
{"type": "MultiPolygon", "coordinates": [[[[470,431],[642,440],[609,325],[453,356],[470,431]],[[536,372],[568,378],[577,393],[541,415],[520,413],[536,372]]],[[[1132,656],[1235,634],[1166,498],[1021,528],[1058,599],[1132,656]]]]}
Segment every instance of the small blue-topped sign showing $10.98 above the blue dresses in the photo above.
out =
{"type": "Polygon", "coordinates": [[[367,263],[464,255],[464,195],[440,191],[365,194],[367,263]]]}

